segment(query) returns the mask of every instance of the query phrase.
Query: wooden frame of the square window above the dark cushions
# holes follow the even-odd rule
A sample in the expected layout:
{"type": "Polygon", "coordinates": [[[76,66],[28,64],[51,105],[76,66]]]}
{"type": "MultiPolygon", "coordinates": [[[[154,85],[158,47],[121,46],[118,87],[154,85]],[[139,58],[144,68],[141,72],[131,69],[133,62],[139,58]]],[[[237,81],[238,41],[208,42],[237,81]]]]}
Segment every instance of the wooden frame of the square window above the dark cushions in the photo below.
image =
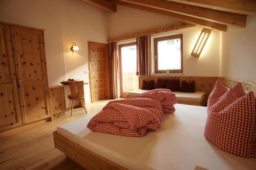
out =
{"type": "Polygon", "coordinates": [[[157,47],[157,43],[158,41],[163,41],[163,40],[170,40],[170,39],[176,39],[176,38],[180,38],[180,64],[181,64],[181,69],[173,69],[172,72],[170,72],[170,74],[172,73],[183,73],[183,34],[177,34],[177,35],[170,35],[170,36],[166,36],[166,37],[160,37],[160,38],[154,38],[154,52],[155,52],[155,73],[156,74],[163,74],[164,70],[159,70],[158,69],[158,47],[157,47]]]}

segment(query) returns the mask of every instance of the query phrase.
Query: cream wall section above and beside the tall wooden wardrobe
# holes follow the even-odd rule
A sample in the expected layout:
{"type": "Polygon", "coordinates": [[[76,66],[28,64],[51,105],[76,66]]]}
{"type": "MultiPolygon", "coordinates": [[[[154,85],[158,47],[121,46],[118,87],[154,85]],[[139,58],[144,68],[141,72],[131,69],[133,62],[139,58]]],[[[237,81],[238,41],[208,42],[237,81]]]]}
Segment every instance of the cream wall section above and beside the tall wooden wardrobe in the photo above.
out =
{"type": "Polygon", "coordinates": [[[0,20],[45,29],[49,85],[66,80],[60,0],[1,0],[0,20]],[[46,10],[47,9],[47,10],[46,10]]]}

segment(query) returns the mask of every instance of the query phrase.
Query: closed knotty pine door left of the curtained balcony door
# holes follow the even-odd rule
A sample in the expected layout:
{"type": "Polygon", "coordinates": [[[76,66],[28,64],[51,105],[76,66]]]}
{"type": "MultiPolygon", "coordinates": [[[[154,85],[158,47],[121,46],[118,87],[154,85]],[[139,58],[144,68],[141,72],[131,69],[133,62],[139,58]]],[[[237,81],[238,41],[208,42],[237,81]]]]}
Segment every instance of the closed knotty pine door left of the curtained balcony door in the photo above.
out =
{"type": "Polygon", "coordinates": [[[89,42],[91,101],[110,99],[108,44],[89,42]]]}

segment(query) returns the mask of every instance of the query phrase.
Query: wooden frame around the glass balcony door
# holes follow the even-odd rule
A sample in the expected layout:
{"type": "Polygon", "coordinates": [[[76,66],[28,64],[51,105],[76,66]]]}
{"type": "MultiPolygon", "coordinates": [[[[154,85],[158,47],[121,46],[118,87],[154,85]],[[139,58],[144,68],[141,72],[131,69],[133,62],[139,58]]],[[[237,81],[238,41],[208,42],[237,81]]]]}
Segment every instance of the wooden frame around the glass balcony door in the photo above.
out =
{"type": "Polygon", "coordinates": [[[124,44],[119,44],[118,45],[118,58],[119,58],[119,72],[120,72],[120,96],[122,98],[127,98],[128,92],[123,92],[123,76],[122,76],[122,53],[121,53],[121,48],[125,46],[132,46],[132,45],[137,45],[137,42],[129,42],[129,43],[124,43],[124,44]]]}

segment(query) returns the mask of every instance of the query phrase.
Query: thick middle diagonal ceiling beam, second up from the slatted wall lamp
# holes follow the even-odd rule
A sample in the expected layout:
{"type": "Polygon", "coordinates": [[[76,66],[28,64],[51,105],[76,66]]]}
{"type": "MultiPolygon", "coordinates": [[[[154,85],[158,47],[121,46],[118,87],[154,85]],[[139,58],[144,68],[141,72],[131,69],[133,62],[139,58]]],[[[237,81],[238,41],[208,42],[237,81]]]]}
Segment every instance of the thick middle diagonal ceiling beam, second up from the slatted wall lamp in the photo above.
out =
{"type": "MultiPolygon", "coordinates": [[[[168,10],[210,21],[217,21],[228,25],[246,27],[246,15],[219,11],[215,9],[197,7],[163,0],[121,0],[152,8],[168,10]]],[[[215,2],[215,1],[213,1],[215,2]]]]}

